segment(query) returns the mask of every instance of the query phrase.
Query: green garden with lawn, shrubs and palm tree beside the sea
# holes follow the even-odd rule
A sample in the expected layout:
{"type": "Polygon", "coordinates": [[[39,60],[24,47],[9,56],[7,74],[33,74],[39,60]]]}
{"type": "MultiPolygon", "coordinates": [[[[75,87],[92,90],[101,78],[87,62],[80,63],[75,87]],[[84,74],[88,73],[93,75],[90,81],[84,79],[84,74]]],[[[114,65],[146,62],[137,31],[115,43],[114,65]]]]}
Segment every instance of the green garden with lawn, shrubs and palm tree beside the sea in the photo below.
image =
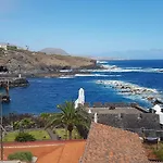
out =
{"type": "Polygon", "coordinates": [[[74,108],[66,101],[58,105],[60,113],[15,114],[3,116],[3,141],[36,141],[61,139],[83,139],[88,134],[90,118],[83,109],[74,108]]]}

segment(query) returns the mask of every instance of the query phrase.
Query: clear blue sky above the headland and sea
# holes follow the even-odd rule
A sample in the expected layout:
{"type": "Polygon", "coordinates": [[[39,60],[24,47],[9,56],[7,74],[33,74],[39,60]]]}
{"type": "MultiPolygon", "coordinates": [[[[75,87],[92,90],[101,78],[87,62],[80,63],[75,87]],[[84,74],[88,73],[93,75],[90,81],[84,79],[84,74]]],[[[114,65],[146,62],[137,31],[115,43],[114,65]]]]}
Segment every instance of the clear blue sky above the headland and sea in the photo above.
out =
{"type": "Polygon", "coordinates": [[[0,42],[121,58],[159,49],[143,58],[163,59],[162,17],[163,0],[0,0],[0,42]]]}

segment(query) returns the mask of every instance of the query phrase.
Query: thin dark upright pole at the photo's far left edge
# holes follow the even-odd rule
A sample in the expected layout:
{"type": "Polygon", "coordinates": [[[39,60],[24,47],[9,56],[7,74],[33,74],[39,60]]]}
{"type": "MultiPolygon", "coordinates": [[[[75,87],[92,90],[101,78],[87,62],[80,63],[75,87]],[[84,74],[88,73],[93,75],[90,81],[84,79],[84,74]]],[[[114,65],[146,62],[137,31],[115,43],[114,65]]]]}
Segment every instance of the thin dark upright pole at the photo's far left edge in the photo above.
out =
{"type": "Polygon", "coordinates": [[[3,115],[2,115],[2,96],[0,95],[0,137],[1,137],[1,161],[3,161],[3,115]]]}

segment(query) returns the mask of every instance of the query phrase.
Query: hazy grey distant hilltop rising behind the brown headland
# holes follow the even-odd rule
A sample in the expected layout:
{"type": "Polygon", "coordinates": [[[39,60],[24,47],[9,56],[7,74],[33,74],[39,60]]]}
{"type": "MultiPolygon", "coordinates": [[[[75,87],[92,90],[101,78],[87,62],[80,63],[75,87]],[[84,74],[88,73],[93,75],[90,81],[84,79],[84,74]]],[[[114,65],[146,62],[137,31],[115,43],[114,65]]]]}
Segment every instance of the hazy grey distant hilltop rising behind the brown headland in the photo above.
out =
{"type": "Polygon", "coordinates": [[[67,55],[68,53],[61,48],[45,48],[40,50],[40,52],[45,52],[46,54],[61,54],[67,55]]]}

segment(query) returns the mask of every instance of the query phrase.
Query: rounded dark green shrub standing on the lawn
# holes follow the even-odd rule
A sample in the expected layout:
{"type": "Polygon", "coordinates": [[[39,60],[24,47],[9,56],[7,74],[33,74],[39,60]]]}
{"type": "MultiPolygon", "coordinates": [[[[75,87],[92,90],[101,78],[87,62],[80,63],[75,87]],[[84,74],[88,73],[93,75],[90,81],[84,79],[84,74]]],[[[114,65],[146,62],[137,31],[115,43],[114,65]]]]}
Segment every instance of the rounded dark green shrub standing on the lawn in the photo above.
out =
{"type": "Polygon", "coordinates": [[[15,141],[18,141],[18,142],[35,141],[35,140],[36,140],[36,138],[28,133],[20,133],[15,137],[15,141]]]}

